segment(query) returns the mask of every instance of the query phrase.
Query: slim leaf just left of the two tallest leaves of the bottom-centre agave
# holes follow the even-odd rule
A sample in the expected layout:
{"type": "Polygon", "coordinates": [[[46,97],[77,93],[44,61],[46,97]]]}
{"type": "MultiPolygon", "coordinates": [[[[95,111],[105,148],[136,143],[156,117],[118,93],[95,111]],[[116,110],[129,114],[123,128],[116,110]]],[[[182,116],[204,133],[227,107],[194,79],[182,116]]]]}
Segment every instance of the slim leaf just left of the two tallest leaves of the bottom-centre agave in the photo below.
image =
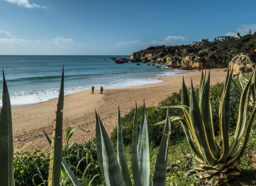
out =
{"type": "Polygon", "coordinates": [[[131,186],[132,182],[130,179],[126,157],[124,154],[124,142],[123,142],[123,133],[122,133],[121,116],[120,116],[119,107],[118,107],[118,122],[117,122],[117,157],[118,157],[119,167],[124,177],[124,182],[126,183],[126,186],[131,186]]]}

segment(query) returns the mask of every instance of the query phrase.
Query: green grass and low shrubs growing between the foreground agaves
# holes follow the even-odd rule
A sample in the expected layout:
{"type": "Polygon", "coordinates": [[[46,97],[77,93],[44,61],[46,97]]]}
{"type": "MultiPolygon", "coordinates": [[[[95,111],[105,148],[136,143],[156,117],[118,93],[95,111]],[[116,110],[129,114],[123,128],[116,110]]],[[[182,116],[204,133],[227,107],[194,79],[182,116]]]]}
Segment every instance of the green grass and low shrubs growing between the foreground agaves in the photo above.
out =
{"type": "MultiPolygon", "coordinates": [[[[247,75],[249,76],[249,75],[247,75]]],[[[245,76],[246,78],[246,76],[245,76]]],[[[196,93],[198,96],[198,88],[196,93]]],[[[219,130],[219,102],[223,91],[223,83],[216,84],[210,87],[210,102],[213,112],[213,123],[215,135],[218,137],[219,130]]],[[[232,85],[231,87],[231,120],[230,120],[230,140],[234,135],[234,130],[237,121],[237,110],[239,106],[239,91],[232,85]]],[[[181,91],[173,93],[166,100],[162,101],[159,106],[167,105],[180,105],[181,91]]],[[[251,112],[252,109],[249,110],[251,112]]],[[[166,109],[158,107],[148,107],[146,109],[148,116],[148,125],[163,121],[166,117],[166,109]]],[[[142,108],[138,109],[138,121],[141,120],[142,108]]],[[[183,117],[183,111],[181,109],[170,109],[170,115],[179,115],[183,117]]],[[[132,109],[127,115],[125,115],[122,121],[122,130],[124,136],[124,147],[126,152],[126,158],[128,160],[128,169],[132,178],[131,162],[130,162],[130,143],[132,137],[134,109],[132,109]]],[[[139,128],[138,128],[139,130],[139,128]]],[[[139,134],[139,132],[138,132],[139,134]]],[[[150,143],[150,167],[151,175],[154,172],[154,163],[156,160],[156,154],[158,147],[162,139],[163,126],[149,127],[149,143],[150,143]]],[[[117,129],[111,133],[111,140],[113,146],[117,147],[117,129]]],[[[102,174],[98,166],[98,160],[96,156],[96,145],[95,140],[89,141],[84,144],[74,144],[72,147],[67,149],[63,148],[63,157],[68,162],[69,166],[80,179],[82,185],[88,185],[90,182],[92,185],[104,185],[102,174]],[[68,152],[67,152],[68,151],[68,152]],[[86,171],[85,171],[86,170],[86,171]],[[93,179],[93,180],[92,180],[93,179]]],[[[47,184],[48,180],[48,164],[49,154],[42,152],[37,149],[31,151],[22,152],[22,146],[18,148],[18,152],[14,156],[14,173],[15,173],[15,184],[16,185],[44,185],[47,184]],[[32,152],[31,152],[32,151],[32,152]],[[33,183],[34,181],[34,183],[33,183]]],[[[167,182],[166,185],[180,186],[180,185],[191,185],[199,180],[197,177],[189,173],[192,170],[192,161],[184,157],[182,154],[191,154],[193,151],[189,147],[183,129],[178,122],[172,122],[172,136],[171,144],[169,147],[168,155],[168,169],[167,169],[167,182]]],[[[252,126],[249,141],[243,156],[240,158],[239,168],[242,169],[241,175],[233,179],[231,185],[255,185],[256,184],[256,122],[252,126]]],[[[133,181],[133,179],[132,179],[133,181]]],[[[67,174],[62,170],[61,185],[67,186],[71,182],[67,177],[67,174]]]]}

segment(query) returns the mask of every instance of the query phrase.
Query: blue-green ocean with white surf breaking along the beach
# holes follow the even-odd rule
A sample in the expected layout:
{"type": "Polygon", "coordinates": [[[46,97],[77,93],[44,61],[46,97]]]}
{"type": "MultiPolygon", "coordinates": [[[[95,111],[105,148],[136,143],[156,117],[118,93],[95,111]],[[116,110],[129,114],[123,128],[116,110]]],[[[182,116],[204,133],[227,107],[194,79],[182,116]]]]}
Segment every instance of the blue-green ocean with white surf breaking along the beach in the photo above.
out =
{"type": "MultiPolygon", "coordinates": [[[[159,77],[182,73],[181,70],[167,68],[157,63],[115,64],[115,61],[109,59],[111,57],[129,56],[0,55],[0,67],[4,69],[12,106],[35,104],[58,97],[62,65],[65,95],[91,89],[91,86],[99,89],[100,86],[119,88],[157,83],[161,82],[158,80],[159,77]]],[[[2,80],[1,74],[1,85],[2,80]]],[[[2,100],[2,90],[0,99],[2,100]]]]}

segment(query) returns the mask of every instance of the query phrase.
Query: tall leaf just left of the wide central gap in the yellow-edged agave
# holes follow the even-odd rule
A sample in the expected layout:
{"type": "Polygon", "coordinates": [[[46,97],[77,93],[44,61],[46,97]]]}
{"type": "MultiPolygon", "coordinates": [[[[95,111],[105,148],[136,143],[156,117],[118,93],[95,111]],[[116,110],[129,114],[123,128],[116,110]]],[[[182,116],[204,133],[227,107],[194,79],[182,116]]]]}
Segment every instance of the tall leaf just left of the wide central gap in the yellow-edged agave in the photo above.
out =
{"type": "Polygon", "coordinates": [[[215,135],[213,130],[213,116],[210,106],[210,71],[204,87],[202,87],[201,95],[201,115],[203,119],[204,129],[206,132],[206,140],[212,156],[215,159],[219,158],[219,150],[215,143],[215,135]]]}

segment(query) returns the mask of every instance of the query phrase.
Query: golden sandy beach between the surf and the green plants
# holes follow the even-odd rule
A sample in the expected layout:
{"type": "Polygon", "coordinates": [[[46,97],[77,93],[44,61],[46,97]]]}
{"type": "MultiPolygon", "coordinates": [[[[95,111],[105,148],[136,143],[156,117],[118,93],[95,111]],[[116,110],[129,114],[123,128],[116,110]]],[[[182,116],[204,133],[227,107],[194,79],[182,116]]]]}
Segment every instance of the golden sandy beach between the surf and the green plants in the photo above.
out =
{"type": "MultiPolygon", "coordinates": [[[[184,80],[189,87],[191,79],[193,85],[200,84],[201,73],[197,70],[184,71],[184,80]]],[[[210,70],[210,84],[222,82],[227,72],[223,69],[210,70]]],[[[108,134],[117,126],[117,108],[119,106],[121,117],[127,114],[130,109],[137,105],[142,106],[145,99],[146,106],[157,106],[173,92],[178,92],[182,87],[182,75],[160,78],[163,82],[146,84],[141,86],[80,91],[64,97],[63,109],[63,144],[65,143],[65,128],[68,125],[83,128],[89,132],[76,130],[70,140],[76,143],[84,143],[95,137],[95,110],[100,115],[102,123],[108,134]]],[[[64,82],[65,85],[65,82],[64,82]]],[[[32,147],[41,148],[43,151],[50,151],[43,130],[52,138],[54,119],[56,117],[56,104],[58,99],[41,102],[34,105],[12,108],[13,121],[13,146],[14,151],[20,144],[24,144],[24,150],[32,147]]]]}

